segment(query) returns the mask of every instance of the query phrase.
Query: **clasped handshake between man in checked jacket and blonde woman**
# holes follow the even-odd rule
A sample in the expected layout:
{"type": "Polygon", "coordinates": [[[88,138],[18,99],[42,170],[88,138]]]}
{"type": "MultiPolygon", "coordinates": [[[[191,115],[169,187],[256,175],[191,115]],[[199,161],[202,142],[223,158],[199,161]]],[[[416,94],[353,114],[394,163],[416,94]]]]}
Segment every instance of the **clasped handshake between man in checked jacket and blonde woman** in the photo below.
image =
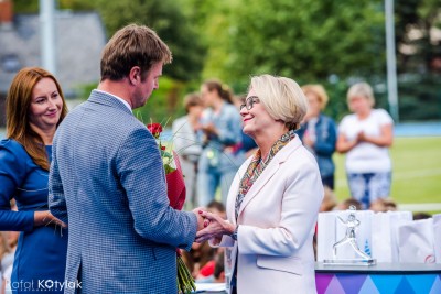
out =
{"type": "Polygon", "coordinates": [[[224,235],[230,236],[236,226],[228,220],[222,218],[219,215],[209,213],[203,207],[193,209],[197,217],[197,233],[195,242],[204,242],[214,239],[214,243],[219,243],[224,235]]]}

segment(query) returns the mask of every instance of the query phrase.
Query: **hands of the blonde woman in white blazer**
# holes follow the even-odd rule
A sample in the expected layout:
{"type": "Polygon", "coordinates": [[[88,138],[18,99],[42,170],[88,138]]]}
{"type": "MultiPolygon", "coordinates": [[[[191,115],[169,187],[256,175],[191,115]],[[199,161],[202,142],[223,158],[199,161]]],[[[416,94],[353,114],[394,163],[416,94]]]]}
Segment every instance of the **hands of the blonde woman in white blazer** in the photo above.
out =
{"type": "Polygon", "coordinates": [[[233,224],[216,214],[203,210],[200,210],[200,214],[205,219],[205,228],[196,233],[196,242],[203,242],[213,238],[222,239],[223,235],[232,235],[236,229],[233,224]]]}

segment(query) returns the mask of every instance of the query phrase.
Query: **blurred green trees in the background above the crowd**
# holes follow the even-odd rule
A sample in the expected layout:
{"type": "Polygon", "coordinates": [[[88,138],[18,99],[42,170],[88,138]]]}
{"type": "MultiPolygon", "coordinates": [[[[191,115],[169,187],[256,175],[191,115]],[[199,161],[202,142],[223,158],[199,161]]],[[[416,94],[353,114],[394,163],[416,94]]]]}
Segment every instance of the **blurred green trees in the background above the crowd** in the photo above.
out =
{"type": "MultiPolygon", "coordinates": [[[[244,92],[250,75],[269,73],[300,84],[324,84],[331,96],[327,111],[338,119],[346,111],[348,84],[357,79],[373,84],[378,106],[387,108],[384,1],[58,0],[58,6],[96,9],[108,35],[130,22],[159,33],[174,55],[164,68],[165,88],[155,94],[164,100],[153,107],[162,109],[159,116],[175,113],[179,98],[197,89],[203,79],[218,77],[244,92]]],[[[36,2],[14,1],[25,12],[37,8],[36,2]]],[[[440,15],[440,0],[395,1],[400,109],[406,120],[424,118],[417,109],[420,99],[435,104],[428,118],[441,119],[441,68],[434,63],[441,63],[441,37],[433,33],[433,28],[441,28],[440,15]]]]}

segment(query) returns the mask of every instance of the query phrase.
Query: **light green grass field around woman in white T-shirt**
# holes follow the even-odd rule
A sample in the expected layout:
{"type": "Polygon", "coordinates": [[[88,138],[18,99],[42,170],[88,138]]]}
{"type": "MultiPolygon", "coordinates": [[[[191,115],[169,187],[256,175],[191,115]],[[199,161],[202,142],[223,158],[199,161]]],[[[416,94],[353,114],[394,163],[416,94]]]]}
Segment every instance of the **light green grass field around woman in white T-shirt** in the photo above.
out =
{"type": "MultiPolygon", "coordinates": [[[[441,203],[441,137],[395,138],[391,197],[397,204],[441,203]]],[[[342,154],[335,154],[340,200],[349,197],[342,154]]]]}

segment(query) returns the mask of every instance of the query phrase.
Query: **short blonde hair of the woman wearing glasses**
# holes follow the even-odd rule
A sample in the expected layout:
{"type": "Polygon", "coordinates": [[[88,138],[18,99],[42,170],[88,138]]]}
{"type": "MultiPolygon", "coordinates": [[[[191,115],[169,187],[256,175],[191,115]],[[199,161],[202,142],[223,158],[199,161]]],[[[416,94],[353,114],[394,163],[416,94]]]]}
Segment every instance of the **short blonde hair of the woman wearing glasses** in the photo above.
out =
{"type": "Polygon", "coordinates": [[[268,113],[297,130],[308,110],[308,100],[300,86],[287,77],[261,75],[251,77],[249,89],[256,92],[268,113]]]}

